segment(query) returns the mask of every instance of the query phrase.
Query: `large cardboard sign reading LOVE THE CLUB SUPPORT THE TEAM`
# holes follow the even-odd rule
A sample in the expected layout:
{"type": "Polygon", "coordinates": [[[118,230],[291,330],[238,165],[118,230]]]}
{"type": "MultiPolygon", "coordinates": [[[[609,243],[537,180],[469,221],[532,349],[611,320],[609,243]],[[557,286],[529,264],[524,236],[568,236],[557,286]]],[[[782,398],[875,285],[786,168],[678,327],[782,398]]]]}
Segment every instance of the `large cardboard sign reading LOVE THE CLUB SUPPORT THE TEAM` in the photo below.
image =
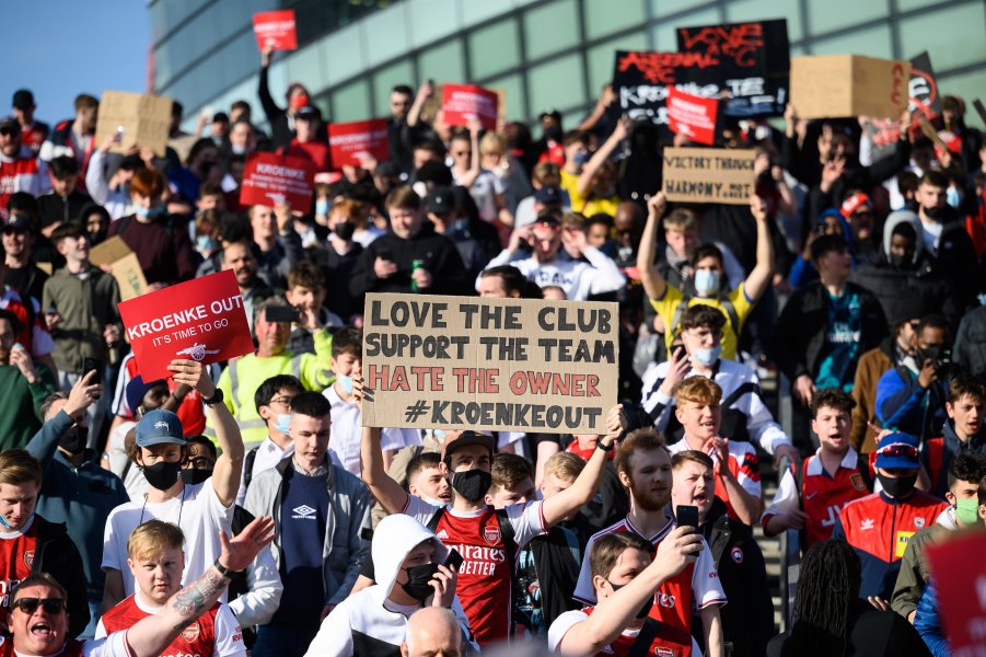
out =
{"type": "Polygon", "coordinates": [[[363,426],[605,434],[617,313],[616,303],[367,295],[363,426]]]}

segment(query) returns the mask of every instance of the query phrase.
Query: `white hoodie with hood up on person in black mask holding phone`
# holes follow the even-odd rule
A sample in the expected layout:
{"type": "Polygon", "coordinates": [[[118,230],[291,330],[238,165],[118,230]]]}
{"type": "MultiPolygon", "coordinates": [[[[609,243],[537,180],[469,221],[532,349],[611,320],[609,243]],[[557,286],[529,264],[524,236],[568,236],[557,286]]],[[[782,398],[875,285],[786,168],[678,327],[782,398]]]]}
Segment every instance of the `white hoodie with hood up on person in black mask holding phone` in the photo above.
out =
{"type": "MultiPolygon", "coordinates": [[[[332,657],[397,657],[407,630],[407,619],[425,603],[397,604],[387,597],[408,553],[425,541],[434,541],[434,560],[444,563],[449,550],[424,525],[403,514],[380,521],[370,548],[376,584],[349,596],[322,622],[305,655],[332,657]]],[[[430,599],[429,599],[430,600],[430,599]]],[[[427,600],[426,600],[427,602],[427,600]]],[[[463,636],[471,637],[468,621],[456,597],[452,610],[460,619],[463,636]]]]}

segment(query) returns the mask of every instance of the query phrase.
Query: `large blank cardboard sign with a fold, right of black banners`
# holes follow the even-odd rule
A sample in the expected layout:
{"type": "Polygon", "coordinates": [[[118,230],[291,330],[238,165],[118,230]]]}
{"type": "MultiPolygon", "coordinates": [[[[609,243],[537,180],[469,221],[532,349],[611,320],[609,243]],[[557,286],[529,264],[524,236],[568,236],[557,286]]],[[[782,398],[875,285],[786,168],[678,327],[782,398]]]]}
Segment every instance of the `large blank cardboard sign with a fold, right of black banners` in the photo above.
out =
{"type": "Polygon", "coordinates": [[[801,118],[898,118],[909,103],[910,64],[859,55],[791,59],[791,102],[801,118]]]}

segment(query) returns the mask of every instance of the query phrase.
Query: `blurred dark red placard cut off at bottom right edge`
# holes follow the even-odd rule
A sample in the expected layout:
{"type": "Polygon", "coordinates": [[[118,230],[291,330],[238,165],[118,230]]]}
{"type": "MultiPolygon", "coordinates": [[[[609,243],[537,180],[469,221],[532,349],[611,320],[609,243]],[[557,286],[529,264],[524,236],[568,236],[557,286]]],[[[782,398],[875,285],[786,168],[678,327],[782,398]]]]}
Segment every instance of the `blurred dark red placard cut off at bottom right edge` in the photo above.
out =
{"type": "Polygon", "coordinates": [[[952,655],[986,649],[986,532],[928,545],[938,608],[952,655]]]}

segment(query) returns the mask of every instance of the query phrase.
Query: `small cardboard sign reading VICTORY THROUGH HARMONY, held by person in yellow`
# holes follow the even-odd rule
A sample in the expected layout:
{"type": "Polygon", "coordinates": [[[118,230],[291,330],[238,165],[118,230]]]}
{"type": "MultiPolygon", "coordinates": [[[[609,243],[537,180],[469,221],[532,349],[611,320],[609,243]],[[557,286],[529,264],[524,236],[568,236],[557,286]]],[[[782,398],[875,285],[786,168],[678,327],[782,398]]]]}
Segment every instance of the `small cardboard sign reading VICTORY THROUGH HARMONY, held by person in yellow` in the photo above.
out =
{"type": "Polygon", "coordinates": [[[746,205],[756,187],[753,150],[665,148],[668,200],[746,205]]]}

